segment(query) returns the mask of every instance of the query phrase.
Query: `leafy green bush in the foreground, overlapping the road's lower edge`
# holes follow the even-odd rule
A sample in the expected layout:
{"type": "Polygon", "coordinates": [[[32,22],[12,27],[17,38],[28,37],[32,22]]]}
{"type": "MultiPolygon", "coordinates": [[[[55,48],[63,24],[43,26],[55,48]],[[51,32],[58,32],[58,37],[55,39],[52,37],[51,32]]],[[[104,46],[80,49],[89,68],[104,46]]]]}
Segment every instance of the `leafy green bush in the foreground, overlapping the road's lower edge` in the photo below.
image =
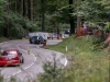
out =
{"type": "Polygon", "coordinates": [[[40,82],[63,82],[63,69],[58,65],[58,60],[45,61],[43,65],[43,73],[38,74],[40,82]]]}

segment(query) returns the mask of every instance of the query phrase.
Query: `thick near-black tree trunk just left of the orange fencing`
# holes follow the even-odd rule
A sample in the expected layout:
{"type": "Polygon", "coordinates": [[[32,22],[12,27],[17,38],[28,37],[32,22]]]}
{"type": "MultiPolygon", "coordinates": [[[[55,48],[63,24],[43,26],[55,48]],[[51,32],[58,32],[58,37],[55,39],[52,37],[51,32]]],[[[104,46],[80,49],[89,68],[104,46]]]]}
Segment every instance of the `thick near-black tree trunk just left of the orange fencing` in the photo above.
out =
{"type": "Polygon", "coordinates": [[[73,0],[69,0],[69,23],[70,23],[70,35],[75,34],[75,21],[74,21],[74,16],[72,16],[73,13],[73,0]]]}

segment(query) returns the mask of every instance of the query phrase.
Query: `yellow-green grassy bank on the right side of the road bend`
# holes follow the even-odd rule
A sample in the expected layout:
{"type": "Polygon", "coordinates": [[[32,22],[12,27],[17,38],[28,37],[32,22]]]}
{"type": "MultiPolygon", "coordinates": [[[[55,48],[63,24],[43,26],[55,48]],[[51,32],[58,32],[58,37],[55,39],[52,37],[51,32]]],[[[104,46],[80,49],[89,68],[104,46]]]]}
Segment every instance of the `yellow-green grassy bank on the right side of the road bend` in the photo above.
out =
{"type": "Polygon", "coordinates": [[[70,36],[57,45],[45,46],[46,49],[62,51],[68,58],[63,82],[109,82],[109,51],[107,48],[96,50],[94,36],[70,36]],[[67,46],[67,51],[66,51],[67,46]]]}

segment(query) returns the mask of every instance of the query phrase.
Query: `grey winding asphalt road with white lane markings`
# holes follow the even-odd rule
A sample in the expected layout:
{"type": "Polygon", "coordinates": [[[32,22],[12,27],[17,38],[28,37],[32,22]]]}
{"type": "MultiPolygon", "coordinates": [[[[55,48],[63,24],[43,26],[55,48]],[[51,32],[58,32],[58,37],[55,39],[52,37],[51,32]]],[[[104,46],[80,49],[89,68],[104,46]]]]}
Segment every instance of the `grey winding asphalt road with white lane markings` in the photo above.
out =
{"type": "MultiPolygon", "coordinates": [[[[54,45],[59,42],[62,40],[47,40],[47,45],[54,45]]],[[[13,75],[26,82],[26,79],[37,78],[37,74],[43,72],[43,62],[46,60],[53,62],[53,57],[63,66],[67,65],[65,55],[43,49],[41,46],[43,45],[30,44],[28,39],[10,40],[0,44],[0,48],[2,49],[18,48],[24,57],[24,63],[20,67],[0,67],[1,74],[4,79],[10,79],[13,75]]]]}

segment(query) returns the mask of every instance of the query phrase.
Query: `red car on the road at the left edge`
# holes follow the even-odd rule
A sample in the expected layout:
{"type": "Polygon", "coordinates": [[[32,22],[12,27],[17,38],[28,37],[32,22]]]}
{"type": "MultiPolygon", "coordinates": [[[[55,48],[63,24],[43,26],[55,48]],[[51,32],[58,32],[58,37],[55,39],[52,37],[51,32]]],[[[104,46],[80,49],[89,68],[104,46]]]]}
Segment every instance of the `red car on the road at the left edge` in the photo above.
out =
{"type": "Polygon", "coordinates": [[[0,55],[0,66],[20,66],[23,62],[24,58],[18,49],[3,50],[0,55]]]}

